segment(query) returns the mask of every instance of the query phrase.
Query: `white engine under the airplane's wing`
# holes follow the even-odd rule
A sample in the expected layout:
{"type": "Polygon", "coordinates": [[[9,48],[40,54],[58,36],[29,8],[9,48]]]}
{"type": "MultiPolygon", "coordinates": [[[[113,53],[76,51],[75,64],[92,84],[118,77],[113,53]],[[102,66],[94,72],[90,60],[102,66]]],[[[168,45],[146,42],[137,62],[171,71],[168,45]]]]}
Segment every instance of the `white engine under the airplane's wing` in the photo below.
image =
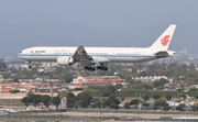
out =
{"type": "Polygon", "coordinates": [[[75,63],[75,60],[73,59],[73,57],[59,56],[57,58],[57,64],[59,66],[68,66],[68,65],[73,65],[74,63],[75,63]]]}

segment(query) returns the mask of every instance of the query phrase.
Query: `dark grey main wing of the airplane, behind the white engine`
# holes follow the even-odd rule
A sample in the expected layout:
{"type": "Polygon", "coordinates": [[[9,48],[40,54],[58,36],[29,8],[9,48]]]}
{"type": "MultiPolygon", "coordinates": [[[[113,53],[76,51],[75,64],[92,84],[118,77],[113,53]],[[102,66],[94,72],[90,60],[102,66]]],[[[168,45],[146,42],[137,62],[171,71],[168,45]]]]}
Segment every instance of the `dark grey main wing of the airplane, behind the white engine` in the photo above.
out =
{"type": "Polygon", "coordinates": [[[92,58],[87,55],[84,46],[78,46],[75,54],[73,55],[75,62],[80,63],[81,65],[91,65],[92,58]]]}

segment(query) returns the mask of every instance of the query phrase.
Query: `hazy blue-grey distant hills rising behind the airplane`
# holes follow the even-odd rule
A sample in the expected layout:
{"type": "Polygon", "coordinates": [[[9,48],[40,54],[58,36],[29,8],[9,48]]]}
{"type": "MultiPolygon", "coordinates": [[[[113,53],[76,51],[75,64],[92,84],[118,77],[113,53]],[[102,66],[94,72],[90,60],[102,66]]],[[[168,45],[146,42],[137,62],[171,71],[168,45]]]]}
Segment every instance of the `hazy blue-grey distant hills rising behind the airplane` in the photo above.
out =
{"type": "MultiPolygon", "coordinates": [[[[147,25],[125,31],[102,30],[76,23],[0,24],[0,57],[30,46],[150,46],[168,25],[147,25]]],[[[198,52],[198,24],[177,24],[170,49],[198,52]]]]}

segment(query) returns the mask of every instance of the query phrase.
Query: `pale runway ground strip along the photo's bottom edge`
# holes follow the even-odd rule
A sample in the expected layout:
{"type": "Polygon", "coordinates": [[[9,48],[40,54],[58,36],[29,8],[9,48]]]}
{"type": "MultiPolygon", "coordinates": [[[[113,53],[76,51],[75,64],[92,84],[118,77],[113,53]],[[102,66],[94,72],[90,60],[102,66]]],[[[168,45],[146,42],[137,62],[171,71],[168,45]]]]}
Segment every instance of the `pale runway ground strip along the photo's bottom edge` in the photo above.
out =
{"type": "MultiPolygon", "coordinates": [[[[185,112],[184,112],[185,113],[185,112]]],[[[19,112],[0,117],[3,121],[59,121],[59,122],[197,122],[197,113],[116,113],[111,112],[19,112]]],[[[0,121],[1,122],[1,121],[0,121]]]]}

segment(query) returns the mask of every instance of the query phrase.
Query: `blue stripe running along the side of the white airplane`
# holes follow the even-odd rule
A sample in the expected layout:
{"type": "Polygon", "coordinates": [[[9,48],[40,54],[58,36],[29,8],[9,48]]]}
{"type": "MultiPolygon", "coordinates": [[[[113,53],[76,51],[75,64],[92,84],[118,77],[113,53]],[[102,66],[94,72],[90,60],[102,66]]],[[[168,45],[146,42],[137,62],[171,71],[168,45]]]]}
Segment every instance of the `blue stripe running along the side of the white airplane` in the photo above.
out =
{"type": "MultiPolygon", "coordinates": [[[[73,56],[73,55],[64,55],[64,54],[19,54],[19,56],[37,56],[37,57],[44,57],[44,56],[73,56]]],[[[90,55],[91,57],[156,57],[155,55],[90,55]]]]}

